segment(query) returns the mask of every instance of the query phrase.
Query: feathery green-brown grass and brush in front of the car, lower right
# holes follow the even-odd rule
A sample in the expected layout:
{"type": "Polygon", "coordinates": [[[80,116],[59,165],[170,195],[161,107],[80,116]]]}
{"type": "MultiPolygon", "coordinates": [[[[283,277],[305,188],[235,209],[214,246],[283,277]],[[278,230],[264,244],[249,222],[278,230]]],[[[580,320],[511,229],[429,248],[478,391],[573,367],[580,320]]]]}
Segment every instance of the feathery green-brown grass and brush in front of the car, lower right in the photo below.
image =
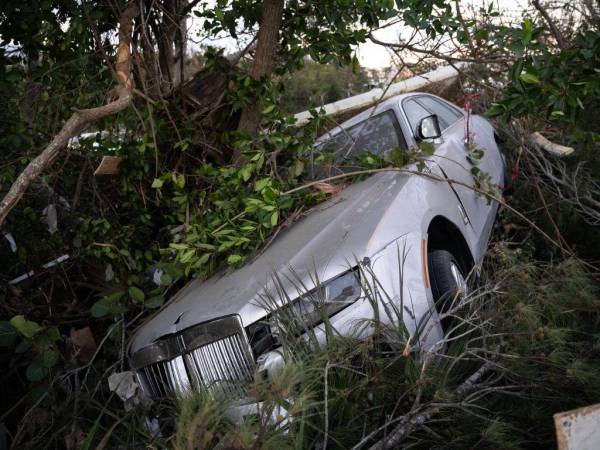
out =
{"type": "MultiPolygon", "coordinates": [[[[370,280],[367,296],[376,292],[370,280]]],[[[377,315],[357,323],[355,334],[325,326],[320,345],[289,333],[282,337],[289,362],[275,377],[255,380],[256,414],[236,423],[223,402],[194,395],[180,404],[173,442],[552,448],[552,414],[600,401],[599,311],[598,289],[576,262],[535,265],[499,245],[479,286],[448,312],[453,326],[439,345],[423,348],[401,321],[386,325],[377,315]],[[359,338],[366,326],[373,334],[359,338]]]]}

